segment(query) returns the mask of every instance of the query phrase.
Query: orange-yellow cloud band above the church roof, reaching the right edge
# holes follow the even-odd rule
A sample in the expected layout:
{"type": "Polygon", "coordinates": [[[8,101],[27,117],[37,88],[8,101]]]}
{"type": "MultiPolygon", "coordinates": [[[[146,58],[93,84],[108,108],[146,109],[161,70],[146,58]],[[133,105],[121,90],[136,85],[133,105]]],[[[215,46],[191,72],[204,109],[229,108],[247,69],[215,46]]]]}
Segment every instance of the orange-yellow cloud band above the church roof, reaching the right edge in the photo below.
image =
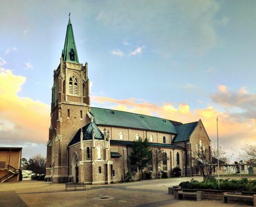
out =
{"type": "Polygon", "coordinates": [[[256,144],[256,116],[254,116],[254,119],[237,120],[234,119],[232,113],[217,110],[212,105],[192,110],[185,103],[178,105],[166,102],[155,104],[134,98],[114,99],[104,96],[91,96],[91,101],[97,107],[159,116],[182,123],[195,122],[201,119],[212,141],[212,146],[216,144],[216,118],[219,117],[220,145],[230,153],[237,154],[240,150],[240,143],[256,144]],[[233,144],[230,144],[231,142],[233,144]]]}

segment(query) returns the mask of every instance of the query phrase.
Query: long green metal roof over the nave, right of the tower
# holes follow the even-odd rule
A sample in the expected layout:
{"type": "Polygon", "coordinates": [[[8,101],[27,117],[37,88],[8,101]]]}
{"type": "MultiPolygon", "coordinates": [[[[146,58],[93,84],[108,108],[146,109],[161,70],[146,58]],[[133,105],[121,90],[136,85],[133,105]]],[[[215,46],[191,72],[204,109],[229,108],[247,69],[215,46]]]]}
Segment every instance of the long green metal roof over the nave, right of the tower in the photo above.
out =
{"type": "Polygon", "coordinates": [[[125,111],[91,107],[94,122],[101,126],[116,126],[177,134],[172,121],[125,111]]]}

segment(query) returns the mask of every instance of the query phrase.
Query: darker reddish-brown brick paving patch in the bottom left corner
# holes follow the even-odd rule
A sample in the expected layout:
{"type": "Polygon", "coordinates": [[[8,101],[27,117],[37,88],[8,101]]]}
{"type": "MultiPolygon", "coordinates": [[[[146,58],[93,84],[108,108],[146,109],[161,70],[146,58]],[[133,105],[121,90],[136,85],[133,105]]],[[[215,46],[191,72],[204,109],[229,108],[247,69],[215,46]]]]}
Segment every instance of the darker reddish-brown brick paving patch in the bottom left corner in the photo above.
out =
{"type": "Polygon", "coordinates": [[[28,207],[14,190],[0,191],[1,207],[28,207]]]}

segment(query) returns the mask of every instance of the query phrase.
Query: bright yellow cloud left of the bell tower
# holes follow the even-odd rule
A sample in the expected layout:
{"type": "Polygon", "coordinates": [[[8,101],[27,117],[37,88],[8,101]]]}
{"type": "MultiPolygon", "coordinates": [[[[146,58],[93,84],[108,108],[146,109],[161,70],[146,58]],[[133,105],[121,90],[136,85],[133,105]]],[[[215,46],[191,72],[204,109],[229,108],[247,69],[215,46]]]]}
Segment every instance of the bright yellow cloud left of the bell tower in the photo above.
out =
{"type": "Polygon", "coordinates": [[[50,126],[50,106],[29,97],[20,97],[23,76],[0,68],[0,143],[46,143],[50,126]]]}

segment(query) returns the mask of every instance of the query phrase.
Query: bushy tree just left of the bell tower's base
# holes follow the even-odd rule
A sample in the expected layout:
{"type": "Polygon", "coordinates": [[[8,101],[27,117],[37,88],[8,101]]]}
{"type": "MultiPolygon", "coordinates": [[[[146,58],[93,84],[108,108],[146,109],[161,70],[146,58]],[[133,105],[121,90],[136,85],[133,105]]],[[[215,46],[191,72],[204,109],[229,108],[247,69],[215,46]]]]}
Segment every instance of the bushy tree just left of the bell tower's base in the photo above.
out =
{"type": "Polygon", "coordinates": [[[28,162],[28,170],[31,170],[35,174],[45,174],[46,168],[46,158],[40,154],[35,155],[34,157],[29,159],[28,162]]]}

